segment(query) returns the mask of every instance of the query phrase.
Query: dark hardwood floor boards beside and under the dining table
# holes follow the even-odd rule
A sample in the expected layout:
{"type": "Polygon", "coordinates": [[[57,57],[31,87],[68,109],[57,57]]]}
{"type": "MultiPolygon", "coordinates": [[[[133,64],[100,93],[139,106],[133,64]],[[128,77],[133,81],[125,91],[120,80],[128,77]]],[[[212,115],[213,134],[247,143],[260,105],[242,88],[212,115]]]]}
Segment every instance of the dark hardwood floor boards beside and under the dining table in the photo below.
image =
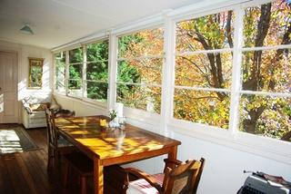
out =
{"type": "MultiPolygon", "coordinates": [[[[4,126],[0,124],[0,129],[4,126]]],[[[5,127],[7,126],[12,125],[6,125],[5,127]]],[[[47,173],[46,129],[38,128],[26,131],[35,141],[39,150],[0,155],[0,194],[80,193],[78,181],[75,179],[76,175],[74,173],[72,174],[73,178],[69,182],[68,189],[62,188],[62,170],[54,170],[51,173],[47,173]]],[[[115,171],[111,171],[108,174],[112,174],[115,182],[117,181],[115,171]]],[[[113,182],[111,180],[110,182],[113,182]]],[[[120,179],[119,182],[121,183],[122,181],[120,179]]],[[[122,185],[118,187],[120,188],[122,185]]],[[[93,179],[89,180],[87,193],[93,193],[92,188],[93,179]]],[[[105,193],[119,194],[122,191],[114,189],[105,180],[105,193]]]]}

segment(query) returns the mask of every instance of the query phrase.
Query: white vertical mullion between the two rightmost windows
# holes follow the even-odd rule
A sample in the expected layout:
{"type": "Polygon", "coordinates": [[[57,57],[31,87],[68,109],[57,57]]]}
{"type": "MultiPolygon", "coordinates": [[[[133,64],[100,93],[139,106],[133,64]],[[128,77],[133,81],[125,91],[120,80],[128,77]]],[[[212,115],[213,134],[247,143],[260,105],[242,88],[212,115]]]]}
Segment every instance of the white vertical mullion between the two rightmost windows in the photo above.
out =
{"type": "Polygon", "coordinates": [[[235,133],[239,123],[239,91],[241,88],[241,63],[243,44],[244,10],[237,6],[235,11],[234,55],[232,69],[232,85],[229,112],[229,132],[235,133]]]}

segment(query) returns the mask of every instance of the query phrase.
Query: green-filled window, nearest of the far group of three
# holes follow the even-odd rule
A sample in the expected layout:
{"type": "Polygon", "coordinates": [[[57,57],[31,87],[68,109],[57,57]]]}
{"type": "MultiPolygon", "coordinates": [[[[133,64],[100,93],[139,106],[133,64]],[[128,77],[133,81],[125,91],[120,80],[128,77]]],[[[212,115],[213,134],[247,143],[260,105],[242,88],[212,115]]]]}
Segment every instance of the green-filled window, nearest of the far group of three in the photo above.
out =
{"type": "Polygon", "coordinates": [[[87,44],[85,48],[85,97],[105,102],[108,89],[108,40],[87,44]]]}

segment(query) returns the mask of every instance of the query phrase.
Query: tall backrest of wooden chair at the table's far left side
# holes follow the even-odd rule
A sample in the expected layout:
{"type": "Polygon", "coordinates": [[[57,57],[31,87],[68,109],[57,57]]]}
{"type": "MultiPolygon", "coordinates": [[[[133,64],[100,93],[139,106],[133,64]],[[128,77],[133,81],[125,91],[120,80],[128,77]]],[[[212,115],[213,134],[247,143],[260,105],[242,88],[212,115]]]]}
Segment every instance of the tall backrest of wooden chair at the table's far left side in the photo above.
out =
{"type": "Polygon", "coordinates": [[[48,146],[57,147],[57,133],[55,131],[55,114],[53,110],[45,109],[48,146]]]}

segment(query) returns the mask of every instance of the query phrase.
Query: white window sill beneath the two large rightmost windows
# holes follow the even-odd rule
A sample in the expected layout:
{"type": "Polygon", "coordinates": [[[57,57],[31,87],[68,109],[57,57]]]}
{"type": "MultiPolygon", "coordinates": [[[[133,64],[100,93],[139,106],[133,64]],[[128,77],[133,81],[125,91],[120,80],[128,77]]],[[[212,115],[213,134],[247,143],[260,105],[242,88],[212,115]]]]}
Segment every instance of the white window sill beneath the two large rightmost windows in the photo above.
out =
{"type": "Polygon", "coordinates": [[[287,141],[279,141],[242,131],[232,133],[231,131],[176,119],[171,119],[167,126],[169,132],[181,133],[231,149],[242,150],[266,159],[291,164],[291,143],[287,141]]]}

